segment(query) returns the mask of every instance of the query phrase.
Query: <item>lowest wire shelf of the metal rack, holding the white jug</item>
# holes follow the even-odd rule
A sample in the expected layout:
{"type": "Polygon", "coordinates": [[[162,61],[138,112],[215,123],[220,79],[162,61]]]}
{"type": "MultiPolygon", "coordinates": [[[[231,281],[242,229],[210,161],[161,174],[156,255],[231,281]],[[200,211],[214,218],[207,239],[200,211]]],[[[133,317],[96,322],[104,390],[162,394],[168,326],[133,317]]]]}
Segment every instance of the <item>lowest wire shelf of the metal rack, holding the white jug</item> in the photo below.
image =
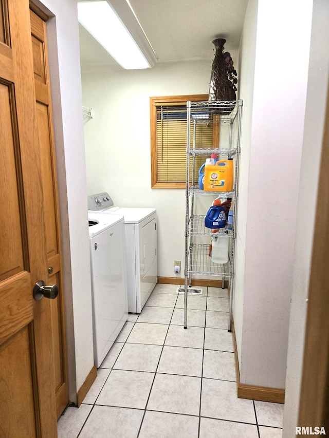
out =
{"type": "Polygon", "coordinates": [[[232,277],[231,263],[214,263],[209,256],[209,246],[197,243],[190,247],[188,255],[188,275],[215,275],[217,277],[232,277]]]}

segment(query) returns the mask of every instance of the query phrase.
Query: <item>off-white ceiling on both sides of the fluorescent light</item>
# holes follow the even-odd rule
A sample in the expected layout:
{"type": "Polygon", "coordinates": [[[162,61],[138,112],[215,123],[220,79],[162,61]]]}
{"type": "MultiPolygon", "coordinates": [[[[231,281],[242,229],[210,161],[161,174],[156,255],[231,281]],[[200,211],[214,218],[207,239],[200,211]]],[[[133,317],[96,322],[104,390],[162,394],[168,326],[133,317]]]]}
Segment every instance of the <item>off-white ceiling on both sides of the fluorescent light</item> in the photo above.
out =
{"type": "MultiPolygon", "coordinates": [[[[212,41],[227,40],[225,50],[237,50],[248,0],[130,0],[158,62],[212,59],[212,41]]],[[[121,69],[81,26],[81,67],[121,69]]]]}

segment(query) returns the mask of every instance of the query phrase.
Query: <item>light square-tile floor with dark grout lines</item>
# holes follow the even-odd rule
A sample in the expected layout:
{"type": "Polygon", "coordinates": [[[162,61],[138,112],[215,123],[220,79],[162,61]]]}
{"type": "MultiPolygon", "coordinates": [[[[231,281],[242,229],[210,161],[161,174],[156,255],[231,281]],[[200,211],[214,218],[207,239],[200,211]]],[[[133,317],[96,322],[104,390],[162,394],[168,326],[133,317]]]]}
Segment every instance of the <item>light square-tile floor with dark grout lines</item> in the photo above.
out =
{"type": "Polygon", "coordinates": [[[130,314],[79,409],[59,438],[281,438],[283,405],[236,397],[228,292],[203,288],[184,301],[157,284],[130,314]]]}

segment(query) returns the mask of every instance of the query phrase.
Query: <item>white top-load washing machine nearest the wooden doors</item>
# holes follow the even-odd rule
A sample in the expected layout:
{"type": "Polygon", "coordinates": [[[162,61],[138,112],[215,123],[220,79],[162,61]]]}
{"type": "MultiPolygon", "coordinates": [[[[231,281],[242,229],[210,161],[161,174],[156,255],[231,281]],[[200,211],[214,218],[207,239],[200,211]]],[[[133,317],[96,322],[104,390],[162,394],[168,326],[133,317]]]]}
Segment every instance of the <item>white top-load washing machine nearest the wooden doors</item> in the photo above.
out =
{"type": "Polygon", "coordinates": [[[128,317],[124,220],[88,212],[94,360],[99,367],[128,317]]]}

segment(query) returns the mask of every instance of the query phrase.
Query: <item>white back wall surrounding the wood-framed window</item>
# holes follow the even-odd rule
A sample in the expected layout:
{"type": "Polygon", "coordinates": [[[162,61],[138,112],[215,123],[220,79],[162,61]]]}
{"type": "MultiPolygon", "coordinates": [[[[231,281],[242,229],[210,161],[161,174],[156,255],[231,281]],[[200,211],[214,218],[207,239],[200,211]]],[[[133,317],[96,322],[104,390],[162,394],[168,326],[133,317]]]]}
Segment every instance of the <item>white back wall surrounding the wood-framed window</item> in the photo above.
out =
{"type": "Polygon", "coordinates": [[[84,125],[88,194],[107,191],[116,205],[156,208],[158,276],[184,277],[174,273],[174,260],[184,265],[185,189],[151,188],[149,98],[207,94],[211,64],[82,74],[83,104],[95,111],[84,125]]]}

